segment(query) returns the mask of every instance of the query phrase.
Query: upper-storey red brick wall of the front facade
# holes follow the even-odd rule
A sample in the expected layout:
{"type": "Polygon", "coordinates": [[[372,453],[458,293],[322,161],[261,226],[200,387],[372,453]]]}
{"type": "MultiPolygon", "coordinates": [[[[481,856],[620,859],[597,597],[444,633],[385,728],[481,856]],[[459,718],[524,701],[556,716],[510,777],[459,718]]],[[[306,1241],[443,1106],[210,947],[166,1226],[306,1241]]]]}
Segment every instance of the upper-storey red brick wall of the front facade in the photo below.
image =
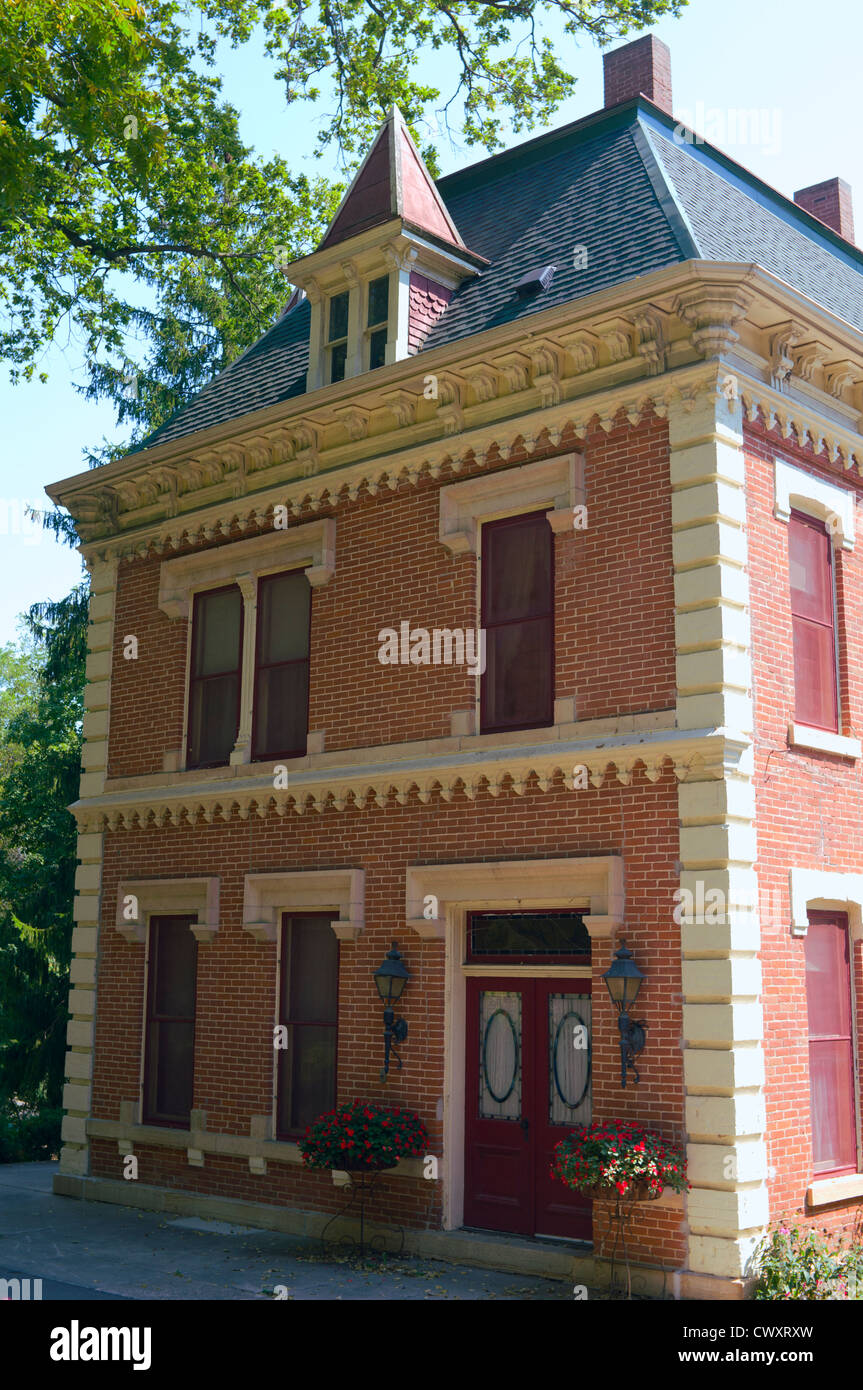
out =
{"type": "MultiPolygon", "coordinates": [[[[554,546],[556,694],[575,696],[578,719],[675,699],[667,427],[620,420],[609,434],[588,431],[588,528],[554,546]]],[[[311,617],[309,728],[327,731],[327,751],[447,738],[450,712],[474,706],[464,666],[378,662],[378,632],[402,620],[429,631],[478,624],[477,560],[438,539],[443,481],[336,509],[336,571],[314,591],[311,617]]],[[[157,607],[160,564],[153,556],[118,573],[111,777],[160,773],[182,741],[188,624],[157,607]],[[126,634],[138,637],[138,660],[122,656],[126,634]]]]}

